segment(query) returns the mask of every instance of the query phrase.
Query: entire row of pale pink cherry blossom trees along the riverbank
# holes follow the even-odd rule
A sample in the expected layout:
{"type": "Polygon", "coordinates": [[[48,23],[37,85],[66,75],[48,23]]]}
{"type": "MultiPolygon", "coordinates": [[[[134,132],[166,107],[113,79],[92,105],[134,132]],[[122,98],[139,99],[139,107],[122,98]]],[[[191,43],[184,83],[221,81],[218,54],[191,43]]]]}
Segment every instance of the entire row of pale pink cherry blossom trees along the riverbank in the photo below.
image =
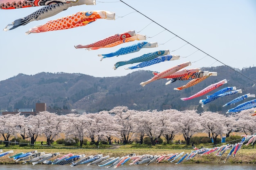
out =
{"type": "MultiPolygon", "coordinates": [[[[197,110],[178,111],[174,109],[157,111],[129,110],[125,106],[117,106],[110,111],[90,114],[56,115],[56,113],[40,112],[36,116],[22,115],[0,116],[0,133],[4,141],[11,136],[20,134],[22,139],[29,139],[34,144],[39,135],[45,135],[47,145],[61,133],[67,140],[80,140],[88,137],[93,144],[100,141],[122,139],[124,144],[150,137],[152,145],[159,138],[165,138],[167,143],[178,133],[182,133],[186,144],[190,144],[191,137],[197,132],[205,132],[217,144],[217,136],[233,131],[252,135],[256,132],[256,117],[249,113],[254,110],[243,110],[239,114],[221,115],[214,112],[198,114],[197,110]]],[[[5,142],[8,146],[9,142],[5,142]]]]}

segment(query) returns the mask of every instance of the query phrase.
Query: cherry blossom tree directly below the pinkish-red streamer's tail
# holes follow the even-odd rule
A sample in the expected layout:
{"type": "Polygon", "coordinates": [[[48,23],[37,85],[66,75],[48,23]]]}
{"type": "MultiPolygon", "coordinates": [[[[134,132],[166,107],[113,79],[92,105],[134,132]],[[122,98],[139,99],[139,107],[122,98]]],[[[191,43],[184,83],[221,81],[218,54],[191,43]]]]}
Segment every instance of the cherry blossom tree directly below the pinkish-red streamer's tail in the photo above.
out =
{"type": "Polygon", "coordinates": [[[196,110],[184,110],[173,113],[173,119],[177,122],[178,130],[183,134],[186,144],[190,144],[190,138],[202,130],[201,120],[196,110]]]}

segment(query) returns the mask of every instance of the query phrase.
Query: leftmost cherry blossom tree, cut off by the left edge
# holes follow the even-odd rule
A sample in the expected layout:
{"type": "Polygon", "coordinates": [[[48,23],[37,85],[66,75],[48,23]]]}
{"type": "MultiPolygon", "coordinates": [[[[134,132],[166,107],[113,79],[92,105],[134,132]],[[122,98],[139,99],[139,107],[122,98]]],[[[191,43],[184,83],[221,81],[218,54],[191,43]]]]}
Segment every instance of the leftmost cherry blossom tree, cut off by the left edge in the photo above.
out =
{"type": "Polygon", "coordinates": [[[19,131],[17,127],[19,114],[8,114],[0,116],[0,133],[4,137],[5,147],[9,146],[9,137],[16,136],[19,131]]]}

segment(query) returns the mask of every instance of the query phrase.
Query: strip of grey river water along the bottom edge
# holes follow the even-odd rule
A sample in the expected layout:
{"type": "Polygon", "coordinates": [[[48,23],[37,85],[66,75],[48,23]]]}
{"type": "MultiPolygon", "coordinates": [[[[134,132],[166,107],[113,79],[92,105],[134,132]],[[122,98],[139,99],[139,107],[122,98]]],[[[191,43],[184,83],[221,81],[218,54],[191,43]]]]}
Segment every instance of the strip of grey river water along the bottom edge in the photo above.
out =
{"type": "MultiPolygon", "coordinates": [[[[110,168],[99,166],[78,165],[71,167],[69,165],[0,165],[0,170],[106,170],[110,168]]],[[[111,168],[112,169],[112,168],[111,168]]],[[[232,164],[206,164],[206,163],[152,163],[145,165],[119,166],[117,170],[255,170],[256,164],[232,163],[232,164]]]]}

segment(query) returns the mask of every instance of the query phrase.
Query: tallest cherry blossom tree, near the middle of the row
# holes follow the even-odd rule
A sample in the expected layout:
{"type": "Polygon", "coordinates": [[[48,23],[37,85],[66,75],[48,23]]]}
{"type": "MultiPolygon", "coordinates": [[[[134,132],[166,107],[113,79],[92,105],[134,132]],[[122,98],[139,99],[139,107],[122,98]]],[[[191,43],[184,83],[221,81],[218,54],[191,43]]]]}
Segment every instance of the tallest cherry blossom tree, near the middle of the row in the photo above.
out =
{"type": "Polygon", "coordinates": [[[132,115],[136,113],[135,110],[129,110],[126,106],[117,106],[112,108],[109,113],[115,114],[117,124],[121,126],[121,137],[124,144],[128,144],[134,134],[132,115]]]}

